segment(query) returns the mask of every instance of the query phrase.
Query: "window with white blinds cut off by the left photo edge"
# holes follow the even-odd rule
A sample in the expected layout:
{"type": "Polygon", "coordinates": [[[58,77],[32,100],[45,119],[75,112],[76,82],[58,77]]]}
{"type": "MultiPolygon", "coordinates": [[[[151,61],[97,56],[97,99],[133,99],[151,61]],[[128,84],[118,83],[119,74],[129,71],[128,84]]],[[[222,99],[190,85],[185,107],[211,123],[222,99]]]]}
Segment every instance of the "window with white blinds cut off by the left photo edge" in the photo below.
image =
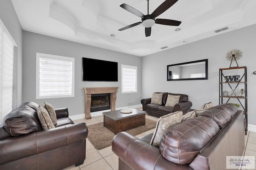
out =
{"type": "Polygon", "coordinates": [[[16,42],[0,20],[0,121],[12,111],[14,47],[16,42]]]}

